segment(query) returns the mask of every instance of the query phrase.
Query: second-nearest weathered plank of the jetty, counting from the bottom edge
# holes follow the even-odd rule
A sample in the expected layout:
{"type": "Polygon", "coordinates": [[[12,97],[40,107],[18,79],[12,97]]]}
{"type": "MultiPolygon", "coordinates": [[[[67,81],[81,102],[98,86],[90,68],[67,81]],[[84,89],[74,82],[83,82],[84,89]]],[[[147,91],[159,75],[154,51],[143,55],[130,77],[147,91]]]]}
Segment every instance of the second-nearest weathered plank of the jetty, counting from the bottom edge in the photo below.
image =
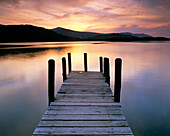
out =
{"type": "Polygon", "coordinates": [[[127,121],[40,121],[39,127],[128,127],[127,121]]]}

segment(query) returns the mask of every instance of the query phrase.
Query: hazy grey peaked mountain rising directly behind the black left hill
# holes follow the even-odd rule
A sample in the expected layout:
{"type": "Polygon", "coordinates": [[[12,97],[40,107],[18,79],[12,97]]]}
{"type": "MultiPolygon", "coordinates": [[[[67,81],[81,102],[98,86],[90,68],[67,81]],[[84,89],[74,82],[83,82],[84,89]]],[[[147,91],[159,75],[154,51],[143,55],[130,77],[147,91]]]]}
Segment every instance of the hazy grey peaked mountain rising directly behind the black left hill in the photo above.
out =
{"type": "Polygon", "coordinates": [[[100,34],[100,33],[94,33],[94,32],[73,31],[70,29],[62,28],[62,27],[57,27],[51,30],[56,32],[57,34],[61,34],[61,35],[73,37],[73,38],[79,38],[79,39],[88,39],[88,38],[95,37],[100,34]]]}

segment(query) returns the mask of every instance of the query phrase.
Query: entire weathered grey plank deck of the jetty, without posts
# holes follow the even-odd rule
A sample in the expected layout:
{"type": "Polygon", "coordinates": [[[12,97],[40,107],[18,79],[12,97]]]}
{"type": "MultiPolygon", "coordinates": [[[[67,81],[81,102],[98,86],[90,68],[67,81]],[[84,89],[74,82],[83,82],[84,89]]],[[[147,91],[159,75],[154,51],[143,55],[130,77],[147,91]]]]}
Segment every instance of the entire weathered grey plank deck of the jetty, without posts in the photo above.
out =
{"type": "Polygon", "coordinates": [[[71,72],[33,136],[133,136],[99,72],[71,72]]]}

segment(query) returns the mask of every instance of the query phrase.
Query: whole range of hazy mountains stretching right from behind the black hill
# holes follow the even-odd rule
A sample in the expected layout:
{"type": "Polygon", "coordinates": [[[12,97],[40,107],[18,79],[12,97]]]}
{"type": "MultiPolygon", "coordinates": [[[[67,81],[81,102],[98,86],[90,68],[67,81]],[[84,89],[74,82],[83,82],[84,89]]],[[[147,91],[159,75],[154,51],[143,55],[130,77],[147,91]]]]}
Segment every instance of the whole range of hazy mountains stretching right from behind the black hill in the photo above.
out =
{"type": "Polygon", "coordinates": [[[65,29],[62,27],[57,27],[51,29],[57,34],[64,36],[69,36],[72,38],[79,38],[80,40],[94,41],[94,40],[103,40],[103,41],[150,41],[150,40],[169,40],[164,37],[152,37],[147,34],[136,34],[130,32],[122,33],[94,33],[94,32],[79,32],[74,30],[65,29]]]}

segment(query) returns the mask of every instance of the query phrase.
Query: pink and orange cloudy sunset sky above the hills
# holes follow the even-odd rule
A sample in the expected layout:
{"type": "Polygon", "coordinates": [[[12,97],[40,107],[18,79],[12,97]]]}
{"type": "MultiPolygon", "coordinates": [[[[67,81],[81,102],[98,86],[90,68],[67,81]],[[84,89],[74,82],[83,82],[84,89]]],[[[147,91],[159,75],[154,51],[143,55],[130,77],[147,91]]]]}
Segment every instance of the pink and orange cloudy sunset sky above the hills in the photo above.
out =
{"type": "Polygon", "coordinates": [[[0,24],[170,37],[170,0],[0,0],[0,24]]]}

